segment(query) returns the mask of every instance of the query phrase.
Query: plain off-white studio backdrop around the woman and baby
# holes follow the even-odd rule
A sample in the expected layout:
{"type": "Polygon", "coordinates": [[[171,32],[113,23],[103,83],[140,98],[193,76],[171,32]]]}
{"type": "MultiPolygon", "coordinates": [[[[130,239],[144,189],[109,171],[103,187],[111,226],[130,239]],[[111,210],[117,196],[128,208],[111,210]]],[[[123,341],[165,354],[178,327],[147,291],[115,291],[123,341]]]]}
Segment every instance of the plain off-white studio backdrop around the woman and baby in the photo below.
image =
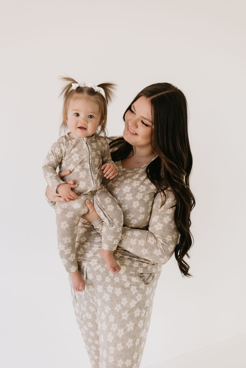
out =
{"type": "Polygon", "coordinates": [[[188,259],[194,277],[182,278],[174,257],[163,266],[141,368],[178,367],[179,358],[190,368],[245,364],[243,4],[12,0],[2,5],[3,367],[90,367],[41,170],[59,136],[58,77],[65,74],[79,82],[118,84],[109,135],[122,133],[122,114],[145,86],[167,81],[185,93],[197,201],[188,259]]]}

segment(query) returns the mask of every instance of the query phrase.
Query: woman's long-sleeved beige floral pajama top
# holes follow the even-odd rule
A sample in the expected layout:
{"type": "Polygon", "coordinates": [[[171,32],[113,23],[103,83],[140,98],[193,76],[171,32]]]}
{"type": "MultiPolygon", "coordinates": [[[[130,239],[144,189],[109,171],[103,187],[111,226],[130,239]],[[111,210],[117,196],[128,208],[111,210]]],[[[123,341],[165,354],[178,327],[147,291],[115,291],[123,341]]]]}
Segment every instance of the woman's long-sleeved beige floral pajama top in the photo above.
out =
{"type": "MultiPolygon", "coordinates": [[[[117,262],[121,268],[159,273],[179,242],[179,233],[174,223],[176,199],[170,188],[167,188],[166,202],[160,208],[162,197],[158,193],[153,199],[157,189],[146,175],[148,164],[137,169],[123,169],[121,161],[115,162],[117,176],[111,180],[103,179],[103,184],[117,200],[124,216],[121,240],[114,252],[117,262]]],[[[46,200],[55,208],[55,202],[51,202],[47,196],[46,200]]],[[[78,264],[104,262],[99,255],[101,229],[100,218],[93,225],[80,219],[76,238],[78,264]]]]}

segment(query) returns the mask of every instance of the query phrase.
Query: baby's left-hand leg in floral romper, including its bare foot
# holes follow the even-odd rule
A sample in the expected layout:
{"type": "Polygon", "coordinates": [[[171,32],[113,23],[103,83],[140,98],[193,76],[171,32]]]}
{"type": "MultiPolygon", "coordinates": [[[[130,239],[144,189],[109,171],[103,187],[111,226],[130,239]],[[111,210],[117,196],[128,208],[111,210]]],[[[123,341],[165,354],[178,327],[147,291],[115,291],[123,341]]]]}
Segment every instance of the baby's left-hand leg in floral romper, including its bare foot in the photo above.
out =
{"type": "Polygon", "coordinates": [[[71,202],[56,202],[56,227],[60,258],[67,272],[70,273],[73,287],[82,291],[84,280],[77,265],[75,241],[79,219],[88,211],[86,198],[80,196],[71,202]]]}

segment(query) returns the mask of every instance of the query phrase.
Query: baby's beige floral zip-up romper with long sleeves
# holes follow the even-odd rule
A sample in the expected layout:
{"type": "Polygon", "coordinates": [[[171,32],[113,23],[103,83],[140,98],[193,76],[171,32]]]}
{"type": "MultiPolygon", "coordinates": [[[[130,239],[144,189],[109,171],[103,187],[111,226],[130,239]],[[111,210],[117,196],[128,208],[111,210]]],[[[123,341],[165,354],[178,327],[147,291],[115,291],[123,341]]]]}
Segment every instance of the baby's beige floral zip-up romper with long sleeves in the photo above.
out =
{"type": "MultiPolygon", "coordinates": [[[[73,190],[79,195],[71,202],[56,202],[56,226],[60,258],[67,272],[77,270],[75,240],[80,217],[88,212],[86,199],[94,203],[95,209],[104,221],[102,248],[114,251],[121,238],[123,226],[122,210],[117,201],[102,183],[103,164],[113,163],[106,139],[98,134],[92,137],[60,137],[46,156],[43,173],[47,183],[56,192],[63,180],[74,180],[78,184],[73,190]],[[56,173],[71,170],[63,180],[56,173]]],[[[114,164],[115,165],[115,164],[114,164]]]]}

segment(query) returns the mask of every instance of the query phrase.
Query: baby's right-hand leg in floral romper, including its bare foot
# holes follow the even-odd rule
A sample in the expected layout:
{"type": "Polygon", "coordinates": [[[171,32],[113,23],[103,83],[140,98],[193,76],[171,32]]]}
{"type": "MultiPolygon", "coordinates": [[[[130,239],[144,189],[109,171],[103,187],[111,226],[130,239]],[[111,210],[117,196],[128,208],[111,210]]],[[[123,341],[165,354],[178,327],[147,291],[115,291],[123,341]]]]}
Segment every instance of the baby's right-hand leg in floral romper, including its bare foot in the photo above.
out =
{"type": "Polygon", "coordinates": [[[116,262],[113,253],[121,238],[123,226],[122,210],[105,187],[96,192],[94,206],[98,215],[104,221],[100,256],[104,259],[108,270],[112,273],[117,273],[121,268],[116,262]]]}

